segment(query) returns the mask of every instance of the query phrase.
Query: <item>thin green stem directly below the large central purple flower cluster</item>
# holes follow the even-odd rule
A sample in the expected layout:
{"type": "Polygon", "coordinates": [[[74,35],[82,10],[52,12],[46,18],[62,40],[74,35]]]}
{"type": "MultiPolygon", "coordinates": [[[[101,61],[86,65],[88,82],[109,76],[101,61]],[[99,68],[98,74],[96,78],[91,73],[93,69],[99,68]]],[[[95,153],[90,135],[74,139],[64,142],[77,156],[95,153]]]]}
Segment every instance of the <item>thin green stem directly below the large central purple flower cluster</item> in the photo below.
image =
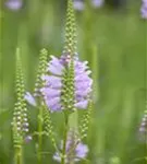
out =
{"type": "Polygon", "coordinates": [[[65,164],[65,149],[66,149],[66,139],[68,139],[68,130],[69,130],[69,116],[64,114],[64,137],[63,137],[63,149],[62,149],[62,156],[61,156],[61,164],[65,164]]]}

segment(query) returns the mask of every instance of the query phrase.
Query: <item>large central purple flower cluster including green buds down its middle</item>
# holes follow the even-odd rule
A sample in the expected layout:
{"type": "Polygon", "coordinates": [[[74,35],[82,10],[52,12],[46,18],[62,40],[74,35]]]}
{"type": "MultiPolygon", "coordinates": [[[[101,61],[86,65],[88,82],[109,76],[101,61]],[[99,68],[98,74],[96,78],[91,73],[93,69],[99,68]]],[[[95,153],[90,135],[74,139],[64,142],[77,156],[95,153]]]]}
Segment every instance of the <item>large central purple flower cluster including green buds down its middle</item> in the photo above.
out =
{"type": "Polygon", "coordinates": [[[45,85],[40,90],[51,112],[70,108],[72,103],[74,108],[87,108],[93,84],[93,80],[89,78],[91,72],[88,70],[87,63],[87,61],[79,61],[77,57],[72,59],[71,56],[61,56],[61,58],[51,56],[47,68],[48,74],[41,77],[45,85]],[[66,77],[66,74],[71,75],[68,72],[72,60],[73,77],[66,77]],[[70,80],[72,78],[73,84],[70,80]],[[73,93],[70,92],[71,89],[73,89],[73,93]],[[69,104],[65,106],[66,102],[69,104]]]}

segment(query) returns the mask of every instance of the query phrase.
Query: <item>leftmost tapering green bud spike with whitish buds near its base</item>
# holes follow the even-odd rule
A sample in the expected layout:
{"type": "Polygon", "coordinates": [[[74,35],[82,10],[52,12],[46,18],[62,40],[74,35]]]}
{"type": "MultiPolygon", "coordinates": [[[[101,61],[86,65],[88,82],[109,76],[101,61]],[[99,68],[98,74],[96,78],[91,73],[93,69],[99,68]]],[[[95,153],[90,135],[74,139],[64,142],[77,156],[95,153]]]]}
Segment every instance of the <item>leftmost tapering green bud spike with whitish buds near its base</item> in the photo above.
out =
{"type": "Polygon", "coordinates": [[[22,72],[22,63],[20,57],[20,49],[16,49],[16,103],[13,113],[13,141],[14,147],[23,144],[24,137],[28,132],[27,108],[24,99],[25,89],[22,72]]]}

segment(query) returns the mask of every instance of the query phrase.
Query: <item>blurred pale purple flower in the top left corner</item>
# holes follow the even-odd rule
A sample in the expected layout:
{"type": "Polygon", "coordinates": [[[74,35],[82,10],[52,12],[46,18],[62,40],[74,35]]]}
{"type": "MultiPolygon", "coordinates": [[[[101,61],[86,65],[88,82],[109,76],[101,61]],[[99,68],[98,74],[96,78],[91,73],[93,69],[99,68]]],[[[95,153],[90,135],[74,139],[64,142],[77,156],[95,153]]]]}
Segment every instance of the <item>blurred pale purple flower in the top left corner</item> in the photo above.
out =
{"type": "Polygon", "coordinates": [[[23,1],[22,0],[8,0],[5,2],[5,5],[11,9],[11,10],[20,10],[23,5],[23,1]]]}

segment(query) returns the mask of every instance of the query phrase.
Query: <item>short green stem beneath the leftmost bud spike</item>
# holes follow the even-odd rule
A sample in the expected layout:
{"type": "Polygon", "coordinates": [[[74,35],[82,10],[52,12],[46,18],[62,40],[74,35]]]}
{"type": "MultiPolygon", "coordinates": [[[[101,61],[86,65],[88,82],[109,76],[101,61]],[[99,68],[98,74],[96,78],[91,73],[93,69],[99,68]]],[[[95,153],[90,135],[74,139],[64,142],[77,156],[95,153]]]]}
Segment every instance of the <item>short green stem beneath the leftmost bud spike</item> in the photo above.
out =
{"type": "Polygon", "coordinates": [[[15,148],[15,164],[23,164],[22,147],[15,148]]]}

